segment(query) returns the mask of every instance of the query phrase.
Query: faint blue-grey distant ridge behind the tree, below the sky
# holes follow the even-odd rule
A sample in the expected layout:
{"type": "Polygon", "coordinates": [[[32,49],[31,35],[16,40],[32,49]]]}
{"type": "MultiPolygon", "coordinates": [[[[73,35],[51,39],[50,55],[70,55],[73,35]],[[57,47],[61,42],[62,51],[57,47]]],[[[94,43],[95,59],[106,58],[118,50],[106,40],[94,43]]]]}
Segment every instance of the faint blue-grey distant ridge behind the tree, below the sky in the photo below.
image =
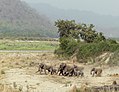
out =
{"type": "Polygon", "coordinates": [[[74,19],[80,23],[91,23],[107,37],[119,37],[119,16],[100,15],[89,11],[64,10],[48,4],[32,3],[30,5],[53,21],[57,19],[74,19]]]}

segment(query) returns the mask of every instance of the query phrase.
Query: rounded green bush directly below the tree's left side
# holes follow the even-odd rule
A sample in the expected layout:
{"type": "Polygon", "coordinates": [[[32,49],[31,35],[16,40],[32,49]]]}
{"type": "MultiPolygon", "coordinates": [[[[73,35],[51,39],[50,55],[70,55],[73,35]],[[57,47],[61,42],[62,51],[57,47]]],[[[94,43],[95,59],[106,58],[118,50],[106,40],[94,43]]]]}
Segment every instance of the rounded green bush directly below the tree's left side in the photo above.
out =
{"type": "Polygon", "coordinates": [[[59,48],[55,50],[55,54],[57,54],[59,57],[69,57],[76,51],[77,46],[77,41],[72,37],[62,37],[60,38],[59,48]]]}

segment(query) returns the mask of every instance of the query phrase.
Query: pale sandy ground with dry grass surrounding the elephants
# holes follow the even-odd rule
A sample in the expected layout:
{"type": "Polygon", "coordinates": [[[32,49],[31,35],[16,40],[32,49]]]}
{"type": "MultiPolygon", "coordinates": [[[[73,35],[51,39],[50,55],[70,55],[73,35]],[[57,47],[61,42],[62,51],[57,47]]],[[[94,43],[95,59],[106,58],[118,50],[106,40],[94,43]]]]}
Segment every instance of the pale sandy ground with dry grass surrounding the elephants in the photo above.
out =
{"type": "Polygon", "coordinates": [[[69,92],[74,85],[79,88],[84,84],[89,87],[111,85],[115,80],[119,83],[119,76],[113,76],[119,74],[118,66],[103,66],[101,67],[102,77],[91,77],[90,70],[95,66],[75,63],[84,67],[84,77],[81,78],[45,75],[44,73],[40,75],[36,71],[38,63],[41,62],[56,67],[62,62],[73,64],[72,61],[59,60],[53,53],[0,53],[0,85],[2,85],[0,92],[13,92],[5,91],[5,86],[22,90],[22,92],[69,92]]]}

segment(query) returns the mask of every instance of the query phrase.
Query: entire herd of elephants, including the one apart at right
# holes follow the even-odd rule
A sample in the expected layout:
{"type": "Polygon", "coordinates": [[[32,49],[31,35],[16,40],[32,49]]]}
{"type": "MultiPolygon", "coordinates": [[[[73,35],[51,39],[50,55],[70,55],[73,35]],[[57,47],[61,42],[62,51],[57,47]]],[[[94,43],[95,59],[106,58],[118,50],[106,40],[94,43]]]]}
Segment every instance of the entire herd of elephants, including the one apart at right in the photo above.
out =
{"type": "MultiPolygon", "coordinates": [[[[40,63],[37,72],[44,72],[45,74],[58,74],[62,76],[84,76],[84,68],[77,65],[69,66],[66,63],[61,63],[58,68],[40,63]]],[[[36,72],[36,73],[37,73],[36,72]]],[[[90,74],[94,76],[101,76],[102,69],[92,68],[90,74]]]]}

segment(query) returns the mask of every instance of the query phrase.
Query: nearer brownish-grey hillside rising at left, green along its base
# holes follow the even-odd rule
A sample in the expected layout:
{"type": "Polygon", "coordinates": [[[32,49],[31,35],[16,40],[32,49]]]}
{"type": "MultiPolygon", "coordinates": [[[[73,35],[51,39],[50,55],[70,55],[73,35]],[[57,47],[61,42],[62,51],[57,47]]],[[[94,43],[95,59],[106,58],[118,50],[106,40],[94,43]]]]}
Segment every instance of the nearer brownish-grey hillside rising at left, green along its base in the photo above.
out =
{"type": "Polygon", "coordinates": [[[56,37],[53,23],[20,0],[0,0],[0,37],[56,37]]]}

